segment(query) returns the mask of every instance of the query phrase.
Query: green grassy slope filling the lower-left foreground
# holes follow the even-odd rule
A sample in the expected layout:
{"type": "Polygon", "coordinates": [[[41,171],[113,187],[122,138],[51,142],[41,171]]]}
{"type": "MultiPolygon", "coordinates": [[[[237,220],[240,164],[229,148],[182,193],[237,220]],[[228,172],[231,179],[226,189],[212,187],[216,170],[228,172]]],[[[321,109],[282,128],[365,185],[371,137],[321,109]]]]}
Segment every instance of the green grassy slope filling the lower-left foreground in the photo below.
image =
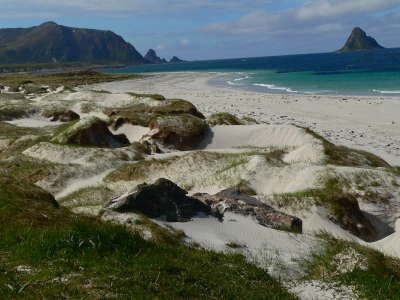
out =
{"type": "Polygon", "coordinates": [[[1,299],[296,299],[240,255],[190,248],[157,227],[146,241],[1,175],[1,299]]]}

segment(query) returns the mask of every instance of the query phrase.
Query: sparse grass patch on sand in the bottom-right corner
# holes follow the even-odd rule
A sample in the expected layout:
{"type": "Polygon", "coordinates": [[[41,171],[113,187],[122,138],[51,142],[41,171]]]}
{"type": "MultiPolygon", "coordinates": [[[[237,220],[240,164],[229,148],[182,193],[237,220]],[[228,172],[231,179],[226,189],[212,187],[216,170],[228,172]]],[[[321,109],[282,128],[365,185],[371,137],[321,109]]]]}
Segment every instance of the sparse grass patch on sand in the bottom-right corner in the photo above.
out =
{"type": "Polygon", "coordinates": [[[322,251],[315,251],[306,260],[308,274],[305,279],[335,281],[345,286],[354,286],[361,299],[400,299],[400,261],[380,251],[356,242],[344,241],[327,233],[317,235],[323,241],[322,251]],[[355,268],[349,273],[336,272],[335,256],[354,249],[365,258],[366,269],[355,268]]]}

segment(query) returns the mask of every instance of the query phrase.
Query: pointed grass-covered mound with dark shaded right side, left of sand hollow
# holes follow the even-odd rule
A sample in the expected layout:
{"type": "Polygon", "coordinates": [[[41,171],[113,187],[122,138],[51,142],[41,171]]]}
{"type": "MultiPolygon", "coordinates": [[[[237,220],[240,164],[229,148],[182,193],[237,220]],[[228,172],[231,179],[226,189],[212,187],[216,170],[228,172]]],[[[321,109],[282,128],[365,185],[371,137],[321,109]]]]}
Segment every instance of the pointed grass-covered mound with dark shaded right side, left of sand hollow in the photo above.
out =
{"type": "Polygon", "coordinates": [[[67,126],[51,139],[60,144],[77,144],[96,147],[122,147],[129,145],[124,134],[113,135],[108,129],[107,122],[91,117],[67,126]]]}

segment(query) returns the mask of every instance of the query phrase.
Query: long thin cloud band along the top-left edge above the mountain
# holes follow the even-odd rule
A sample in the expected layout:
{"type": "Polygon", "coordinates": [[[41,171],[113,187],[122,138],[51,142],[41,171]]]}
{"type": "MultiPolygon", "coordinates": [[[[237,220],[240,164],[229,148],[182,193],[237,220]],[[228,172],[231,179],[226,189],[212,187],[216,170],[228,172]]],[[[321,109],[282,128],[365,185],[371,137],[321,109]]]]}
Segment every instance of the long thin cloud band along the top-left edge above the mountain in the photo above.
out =
{"type": "MultiPolygon", "coordinates": [[[[298,1],[298,0],[285,0],[298,1]]],[[[18,18],[36,12],[43,16],[52,13],[58,17],[133,17],[174,16],[187,18],[187,14],[226,14],[248,12],[275,2],[275,0],[0,0],[0,17],[18,18]]],[[[205,15],[203,14],[202,17],[205,15]]],[[[32,16],[33,17],[33,16],[32,16]]]]}

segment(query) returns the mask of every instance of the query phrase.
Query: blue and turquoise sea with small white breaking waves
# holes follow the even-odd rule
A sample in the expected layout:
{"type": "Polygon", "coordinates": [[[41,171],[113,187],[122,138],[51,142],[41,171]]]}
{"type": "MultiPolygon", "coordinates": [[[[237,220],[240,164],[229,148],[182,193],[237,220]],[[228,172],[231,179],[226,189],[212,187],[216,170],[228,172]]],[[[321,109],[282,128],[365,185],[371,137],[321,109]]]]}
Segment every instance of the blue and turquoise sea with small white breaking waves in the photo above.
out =
{"type": "Polygon", "coordinates": [[[221,72],[209,84],[265,93],[400,97],[400,48],[100,69],[109,73],[221,72]]]}

